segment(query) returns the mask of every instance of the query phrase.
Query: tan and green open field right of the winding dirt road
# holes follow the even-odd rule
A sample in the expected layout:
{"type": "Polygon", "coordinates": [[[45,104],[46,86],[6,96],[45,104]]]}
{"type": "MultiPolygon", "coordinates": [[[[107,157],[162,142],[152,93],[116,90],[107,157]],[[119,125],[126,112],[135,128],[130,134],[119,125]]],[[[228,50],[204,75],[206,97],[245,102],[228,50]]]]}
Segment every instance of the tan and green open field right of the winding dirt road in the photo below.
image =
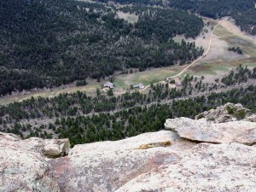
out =
{"type": "MultiPolygon", "coordinates": [[[[227,18],[225,18],[227,19],[227,18]]],[[[256,37],[243,34],[232,20],[223,20],[216,27],[213,34],[211,49],[207,57],[195,66],[190,67],[187,73],[198,75],[217,75],[227,73],[230,69],[239,66],[256,67],[256,37]],[[227,36],[226,35],[233,35],[227,36]],[[238,55],[228,49],[239,46],[244,55],[238,55]]]]}

